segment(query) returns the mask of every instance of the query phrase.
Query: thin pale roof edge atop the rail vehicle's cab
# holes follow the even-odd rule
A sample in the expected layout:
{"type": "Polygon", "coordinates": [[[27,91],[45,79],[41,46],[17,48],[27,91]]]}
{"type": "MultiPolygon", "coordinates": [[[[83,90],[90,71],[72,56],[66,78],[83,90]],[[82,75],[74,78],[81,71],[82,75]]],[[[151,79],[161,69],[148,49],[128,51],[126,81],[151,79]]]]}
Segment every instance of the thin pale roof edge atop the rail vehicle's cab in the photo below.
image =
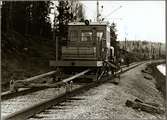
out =
{"type": "MultiPolygon", "coordinates": [[[[86,25],[84,22],[70,22],[68,25],[86,25]]],[[[89,25],[107,25],[107,22],[90,22],[89,25]]]]}

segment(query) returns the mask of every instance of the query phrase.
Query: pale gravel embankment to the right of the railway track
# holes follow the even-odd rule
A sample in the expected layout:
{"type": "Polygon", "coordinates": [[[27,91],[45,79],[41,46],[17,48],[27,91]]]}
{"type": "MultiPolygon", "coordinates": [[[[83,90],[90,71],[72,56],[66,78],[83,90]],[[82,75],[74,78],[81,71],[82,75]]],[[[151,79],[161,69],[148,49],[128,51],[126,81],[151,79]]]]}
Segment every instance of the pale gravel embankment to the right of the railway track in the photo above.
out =
{"type": "Polygon", "coordinates": [[[151,114],[125,105],[127,99],[140,98],[165,108],[165,100],[156,89],[155,79],[145,79],[145,73],[141,72],[145,67],[146,64],[143,64],[122,74],[118,85],[109,81],[75,96],[73,100],[54,106],[54,109],[38,114],[38,117],[40,116],[41,119],[165,119],[164,114],[151,114]]]}

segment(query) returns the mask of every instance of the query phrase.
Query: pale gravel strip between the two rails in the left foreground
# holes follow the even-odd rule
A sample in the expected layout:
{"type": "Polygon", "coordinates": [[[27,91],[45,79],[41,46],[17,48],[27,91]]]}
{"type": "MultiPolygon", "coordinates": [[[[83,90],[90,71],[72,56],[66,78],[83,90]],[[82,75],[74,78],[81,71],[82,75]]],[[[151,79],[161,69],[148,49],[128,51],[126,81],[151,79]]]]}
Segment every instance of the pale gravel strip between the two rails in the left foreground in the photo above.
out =
{"type": "MultiPolygon", "coordinates": [[[[74,85],[73,88],[78,88],[80,85],[74,85]]],[[[66,92],[64,86],[57,88],[49,88],[33,92],[24,96],[18,96],[1,102],[1,118],[20,111],[24,108],[33,106],[39,102],[52,99],[66,92]]]]}

